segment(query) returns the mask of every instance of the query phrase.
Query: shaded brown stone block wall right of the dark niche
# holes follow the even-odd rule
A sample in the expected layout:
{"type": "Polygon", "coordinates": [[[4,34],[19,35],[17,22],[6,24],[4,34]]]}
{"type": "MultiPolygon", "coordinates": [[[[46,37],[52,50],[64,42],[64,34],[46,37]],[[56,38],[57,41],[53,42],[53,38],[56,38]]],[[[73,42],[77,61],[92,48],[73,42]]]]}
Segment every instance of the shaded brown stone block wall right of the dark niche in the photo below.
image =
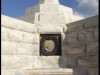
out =
{"type": "Polygon", "coordinates": [[[67,24],[62,52],[73,74],[98,75],[98,28],[98,16],[67,24]]]}

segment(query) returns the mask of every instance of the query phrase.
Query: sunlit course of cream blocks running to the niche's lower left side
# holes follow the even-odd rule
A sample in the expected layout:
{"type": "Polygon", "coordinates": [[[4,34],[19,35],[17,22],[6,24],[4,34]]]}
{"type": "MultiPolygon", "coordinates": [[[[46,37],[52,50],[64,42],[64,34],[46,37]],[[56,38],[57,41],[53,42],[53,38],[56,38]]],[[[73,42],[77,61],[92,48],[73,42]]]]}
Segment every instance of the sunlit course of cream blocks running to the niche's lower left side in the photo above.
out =
{"type": "Polygon", "coordinates": [[[17,43],[2,41],[1,53],[3,55],[33,55],[39,56],[39,44],[17,43]]]}

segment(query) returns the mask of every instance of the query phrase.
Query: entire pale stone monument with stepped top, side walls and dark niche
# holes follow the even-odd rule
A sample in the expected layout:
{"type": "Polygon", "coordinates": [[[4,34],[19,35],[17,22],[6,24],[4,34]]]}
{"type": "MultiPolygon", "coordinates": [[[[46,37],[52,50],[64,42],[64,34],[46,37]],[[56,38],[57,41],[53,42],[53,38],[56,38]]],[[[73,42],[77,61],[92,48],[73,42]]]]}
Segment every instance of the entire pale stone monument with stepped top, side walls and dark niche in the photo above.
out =
{"type": "Polygon", "coordinates": [[[58,0],[2,15],[2,75],[98,75],[98,19],[80,19],[58,0]]]}

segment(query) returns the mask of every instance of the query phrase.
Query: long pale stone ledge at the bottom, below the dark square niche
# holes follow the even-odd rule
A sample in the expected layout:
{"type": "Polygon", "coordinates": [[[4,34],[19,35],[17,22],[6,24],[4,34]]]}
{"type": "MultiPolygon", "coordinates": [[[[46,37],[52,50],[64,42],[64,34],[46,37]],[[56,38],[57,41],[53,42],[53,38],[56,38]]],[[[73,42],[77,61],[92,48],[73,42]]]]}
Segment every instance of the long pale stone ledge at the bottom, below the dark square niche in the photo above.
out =
{"type": "Polygon", "coordinates": [[[27,70],[26,75],[72,75],[72,69],[32,69],[27,70]]]}

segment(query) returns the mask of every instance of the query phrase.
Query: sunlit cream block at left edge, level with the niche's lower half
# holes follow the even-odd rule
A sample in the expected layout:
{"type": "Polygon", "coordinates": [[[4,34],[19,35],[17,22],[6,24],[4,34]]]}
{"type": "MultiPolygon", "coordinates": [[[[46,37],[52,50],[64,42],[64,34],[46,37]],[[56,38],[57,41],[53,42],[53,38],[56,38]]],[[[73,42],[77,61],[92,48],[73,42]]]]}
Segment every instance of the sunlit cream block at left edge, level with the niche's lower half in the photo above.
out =
{"type": "Polygon", "coordinates": [[[1,42],[1,54],[3,55],[12,55],[15,54],[16,51],[16,43],[10,41],[2,41],[1,42]]]}

